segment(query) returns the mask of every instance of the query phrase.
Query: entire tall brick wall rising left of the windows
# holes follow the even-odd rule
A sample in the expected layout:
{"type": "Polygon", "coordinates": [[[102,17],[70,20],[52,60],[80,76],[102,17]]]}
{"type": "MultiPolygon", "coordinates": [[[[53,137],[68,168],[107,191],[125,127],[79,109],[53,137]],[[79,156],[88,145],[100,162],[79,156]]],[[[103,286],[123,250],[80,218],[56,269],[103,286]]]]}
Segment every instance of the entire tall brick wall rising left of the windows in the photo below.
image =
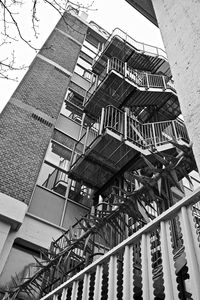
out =
{"type": "MultiPolygon", "coordinates": [[[[82,42],[86,26],[70,16],[73,26],[58,23],[82,42]]],[[[48,38],[0,116],[0,192],[29,203],[73,72],[80,45],[58,30],[48,38]],[[51,45],[51,47],[48,47],[51,45]],[[56,67],[58,64],[61,68],[56,67]],[[52,126],[51,126],[52,124],[52,126]]]]}

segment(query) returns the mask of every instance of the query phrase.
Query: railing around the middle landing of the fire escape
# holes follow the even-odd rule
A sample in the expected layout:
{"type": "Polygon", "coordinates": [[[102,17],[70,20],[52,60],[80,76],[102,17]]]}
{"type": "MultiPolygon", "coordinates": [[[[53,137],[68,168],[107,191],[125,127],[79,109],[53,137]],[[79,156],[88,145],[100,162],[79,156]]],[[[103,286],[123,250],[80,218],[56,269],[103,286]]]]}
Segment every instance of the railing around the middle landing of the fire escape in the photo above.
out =
{"type": "Polygon", "coordinates": [[[84,100],[84,105],[86,105],[92,93],[98,88],[98,86],[106,77],[106,75],[112,70],[116,71],[120,75],[132,81],[138,87],[144,87],[146,89],[170,89],[173,93],[176,93],[173,82],[169,81],[169,78],[167,76],[138,71],[127,65],[127,63],[119,60],[118,58],[112,57],[111,59],[108,59],[107,66],[102,72],[103,75],[101,74],[101,80],[98,80],[98,78],[96,78],[96,81],[91,85],[90,89],[87,91],[84,100]]]}

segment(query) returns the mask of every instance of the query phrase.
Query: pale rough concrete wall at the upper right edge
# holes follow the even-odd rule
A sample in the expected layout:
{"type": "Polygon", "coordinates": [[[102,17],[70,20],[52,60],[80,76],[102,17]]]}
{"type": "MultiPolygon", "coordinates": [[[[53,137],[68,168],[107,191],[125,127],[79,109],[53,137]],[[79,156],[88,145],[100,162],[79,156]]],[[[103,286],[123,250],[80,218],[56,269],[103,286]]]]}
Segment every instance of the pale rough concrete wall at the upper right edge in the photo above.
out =
{"type": "Polygon", "coordinates": [[[200,170],[200,2],[152,0],[200,170]]]}

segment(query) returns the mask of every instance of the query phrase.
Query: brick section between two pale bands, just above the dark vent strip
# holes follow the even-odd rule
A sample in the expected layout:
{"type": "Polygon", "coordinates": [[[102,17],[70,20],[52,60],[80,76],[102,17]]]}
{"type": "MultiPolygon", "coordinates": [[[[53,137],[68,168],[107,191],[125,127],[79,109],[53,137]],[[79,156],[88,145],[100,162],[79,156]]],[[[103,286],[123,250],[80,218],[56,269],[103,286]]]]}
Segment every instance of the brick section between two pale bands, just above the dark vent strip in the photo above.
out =
{"type": "Polygon", "coordinates": [[[69,76],[36,57],[13,98],[57,118],[69,80],[69,76]]]}

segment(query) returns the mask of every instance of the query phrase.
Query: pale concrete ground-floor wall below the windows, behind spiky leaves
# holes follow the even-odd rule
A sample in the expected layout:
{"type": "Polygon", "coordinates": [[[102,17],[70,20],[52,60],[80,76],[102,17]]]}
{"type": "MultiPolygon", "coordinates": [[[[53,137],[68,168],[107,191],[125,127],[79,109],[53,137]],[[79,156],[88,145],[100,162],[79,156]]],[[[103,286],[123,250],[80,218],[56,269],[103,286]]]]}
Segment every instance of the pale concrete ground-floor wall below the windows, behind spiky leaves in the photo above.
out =
{"type": "MultiPolygon", "coordinates": [[[[0,288],[5,288],[5,285],[12,283],[11,276],[16,279],[16,274],[22,278],[27,275],[30,264],[35,261],[34,251],[39,254],[40,247],[48,249],[52,239],[57,239],[61,234],[61,228],[26,215],[20,229],[10,231],[1,251],[0,288]],[[24,251],[13,247],[16,242],[25,246],[24,251]]],[[[32,268],[31,272],[34,271],[35,268],[32,268]]]]}

